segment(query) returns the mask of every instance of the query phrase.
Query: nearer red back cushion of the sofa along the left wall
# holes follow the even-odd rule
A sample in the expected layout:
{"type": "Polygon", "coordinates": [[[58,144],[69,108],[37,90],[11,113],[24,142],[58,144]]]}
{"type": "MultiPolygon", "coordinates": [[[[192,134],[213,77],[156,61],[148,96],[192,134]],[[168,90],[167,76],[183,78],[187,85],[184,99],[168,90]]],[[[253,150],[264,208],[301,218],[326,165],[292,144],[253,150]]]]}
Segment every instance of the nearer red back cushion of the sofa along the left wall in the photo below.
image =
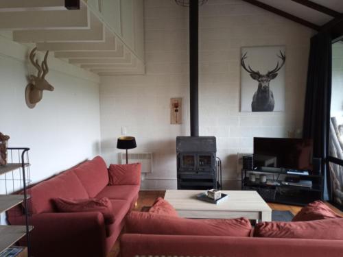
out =
{"type": "Polygon", "coordinates": [[[86,199],[86,189],[73,173],[73,170],[65,171],[50,180],[36,184],[28,190],[31,209],[33,214],[40,212],[54,212],[52,199],[56,197],[86,199]]]}

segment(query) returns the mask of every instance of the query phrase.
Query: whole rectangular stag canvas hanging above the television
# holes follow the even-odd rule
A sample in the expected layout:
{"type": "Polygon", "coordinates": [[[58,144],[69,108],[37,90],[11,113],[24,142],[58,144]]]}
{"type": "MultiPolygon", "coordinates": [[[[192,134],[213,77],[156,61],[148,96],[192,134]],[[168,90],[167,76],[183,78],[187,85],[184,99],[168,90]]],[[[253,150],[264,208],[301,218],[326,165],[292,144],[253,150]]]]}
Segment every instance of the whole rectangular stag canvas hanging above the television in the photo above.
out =
{"type": "Polygon", "coordinates": [[[285,110],[285,46],[241,48],[241,112],[285,110]]]}

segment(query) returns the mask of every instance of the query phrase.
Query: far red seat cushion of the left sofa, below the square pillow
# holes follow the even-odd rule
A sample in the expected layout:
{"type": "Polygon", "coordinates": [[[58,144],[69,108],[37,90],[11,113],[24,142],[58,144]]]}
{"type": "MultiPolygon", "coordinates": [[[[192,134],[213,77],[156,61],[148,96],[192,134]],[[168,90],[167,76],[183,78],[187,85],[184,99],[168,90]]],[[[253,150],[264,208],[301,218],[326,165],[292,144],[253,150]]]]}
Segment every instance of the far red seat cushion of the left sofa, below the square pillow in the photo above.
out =
{"type": "Polygon", "coordinates": [[[122,199],[132,201],[139,193],[139,186],[137,185],[119,185],[119,186],[106,186],[97,198],[108,197],[110,199],[122,199]]]}

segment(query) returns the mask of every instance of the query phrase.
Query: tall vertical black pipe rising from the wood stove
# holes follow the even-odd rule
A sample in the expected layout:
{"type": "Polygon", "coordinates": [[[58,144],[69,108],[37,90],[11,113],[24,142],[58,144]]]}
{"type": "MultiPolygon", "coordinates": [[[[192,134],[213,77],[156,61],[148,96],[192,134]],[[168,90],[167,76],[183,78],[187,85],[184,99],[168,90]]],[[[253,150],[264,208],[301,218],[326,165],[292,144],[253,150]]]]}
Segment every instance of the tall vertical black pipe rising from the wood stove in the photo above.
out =
{"type": "Polygon", "coordinates": [[[198,0],[189,1],[189,106],[191,108],[191,136],[199,136],[199,68],[198,68],[198,0]]]}

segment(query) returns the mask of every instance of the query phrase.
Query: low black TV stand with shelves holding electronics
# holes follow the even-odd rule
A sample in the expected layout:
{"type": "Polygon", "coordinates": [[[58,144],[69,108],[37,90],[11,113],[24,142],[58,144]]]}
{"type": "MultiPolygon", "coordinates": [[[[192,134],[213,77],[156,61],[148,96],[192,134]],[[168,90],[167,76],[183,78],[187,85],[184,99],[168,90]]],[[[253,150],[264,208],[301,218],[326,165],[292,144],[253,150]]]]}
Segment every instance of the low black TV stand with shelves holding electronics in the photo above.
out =
{"type": "MultiPolygon", "coordinates": [[[[291,171],[292,172],[292,171],[291,171]]],[[[294,172],[297,173],[297,172],[294,172]]],[[[268,168],[241,171],[241,190],[257,191],[265,201],[305,206],[311,201],[323,200],[324,178],[311,173],[294,174],[286,169],[268,168]],[[255,181],[249,176],[254,173],[255,181]],[[267,176],[267,182],[261,182],[261,175],[267,176]],[[299,182],[287,183],[285,177],[294,177],[299,182]]]]}

